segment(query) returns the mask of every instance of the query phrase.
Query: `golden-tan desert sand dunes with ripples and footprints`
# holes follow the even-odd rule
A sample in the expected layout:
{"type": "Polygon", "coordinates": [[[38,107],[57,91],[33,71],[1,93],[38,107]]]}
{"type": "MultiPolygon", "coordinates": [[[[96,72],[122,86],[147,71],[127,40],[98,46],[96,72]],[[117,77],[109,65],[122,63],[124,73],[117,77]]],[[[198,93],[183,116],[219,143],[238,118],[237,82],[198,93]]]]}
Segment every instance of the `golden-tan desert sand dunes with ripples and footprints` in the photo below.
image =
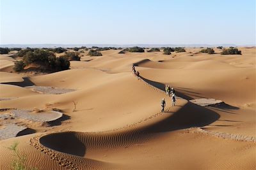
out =
{"type": "Polygon", "coordinates": [[[0,141],[0,169],[10,169],[15,142],[26,166],[38,169],[256,169],[256,48],[214,50],[82,53],[69,70],[38,76],[10,73],[15,59],[1,55],[0,132],[4,124],[27,129],[0,141]],[[202,98],[222,103],[191,102],[202,98]],[[38,122],[15,117],[19,110],[63,115],[38,122]]]}

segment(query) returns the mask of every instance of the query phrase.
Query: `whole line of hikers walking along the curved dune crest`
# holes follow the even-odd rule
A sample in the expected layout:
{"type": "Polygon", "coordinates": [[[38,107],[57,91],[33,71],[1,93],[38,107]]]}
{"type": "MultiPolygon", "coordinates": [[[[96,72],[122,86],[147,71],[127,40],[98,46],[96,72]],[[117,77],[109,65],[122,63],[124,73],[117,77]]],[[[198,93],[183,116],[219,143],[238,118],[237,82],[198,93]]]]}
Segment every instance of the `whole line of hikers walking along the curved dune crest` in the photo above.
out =
{"type": "MultiPolygon", "coordinates": [[[[140,79],[140,73],[139,71],[136,71],[135,66],[132,66],[132,74],[134,74],[138,79],[140,79]]],[[[175,106],[176,102],[176,97],[175,97],[175,90],[173,87],[171,88],[169,85],[165,85],[165,92],[168,95],[168,97],[171,97],[170,95],[172,94],[172,106],[175,106]]],[[[161,106],[162,106],[162,112],[164,111],[164,107],[166,106],[164,98],[161,101],[161,106]]]]}

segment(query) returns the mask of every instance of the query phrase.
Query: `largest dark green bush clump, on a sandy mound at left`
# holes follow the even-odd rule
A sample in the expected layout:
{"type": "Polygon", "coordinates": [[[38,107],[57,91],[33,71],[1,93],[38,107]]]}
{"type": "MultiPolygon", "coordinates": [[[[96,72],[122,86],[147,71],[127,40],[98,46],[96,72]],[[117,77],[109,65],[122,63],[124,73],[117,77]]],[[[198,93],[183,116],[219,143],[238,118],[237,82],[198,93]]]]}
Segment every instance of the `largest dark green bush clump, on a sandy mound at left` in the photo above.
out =
{"type": "Polygon", "coordinates": [[[15,62],[13,70],[17,72],[23,71],[24,67],[32,63],[39,64],[41,66],[40,71],[62,71],[70,67],[67,57],[56,57],[52,52],[36,49],[29,50],[22,60],[15,62]]]}

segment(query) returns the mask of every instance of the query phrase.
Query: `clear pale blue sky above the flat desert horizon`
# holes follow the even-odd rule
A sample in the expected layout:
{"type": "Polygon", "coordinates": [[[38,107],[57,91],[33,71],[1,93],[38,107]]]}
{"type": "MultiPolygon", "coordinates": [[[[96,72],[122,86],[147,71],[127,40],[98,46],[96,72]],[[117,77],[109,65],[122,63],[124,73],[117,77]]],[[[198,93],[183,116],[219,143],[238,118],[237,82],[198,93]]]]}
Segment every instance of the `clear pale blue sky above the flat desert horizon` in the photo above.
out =
{"type": "Polygon", "coordinates": [[[0,0],[0,44],[255,44],[255,0],[0,0]]]}

